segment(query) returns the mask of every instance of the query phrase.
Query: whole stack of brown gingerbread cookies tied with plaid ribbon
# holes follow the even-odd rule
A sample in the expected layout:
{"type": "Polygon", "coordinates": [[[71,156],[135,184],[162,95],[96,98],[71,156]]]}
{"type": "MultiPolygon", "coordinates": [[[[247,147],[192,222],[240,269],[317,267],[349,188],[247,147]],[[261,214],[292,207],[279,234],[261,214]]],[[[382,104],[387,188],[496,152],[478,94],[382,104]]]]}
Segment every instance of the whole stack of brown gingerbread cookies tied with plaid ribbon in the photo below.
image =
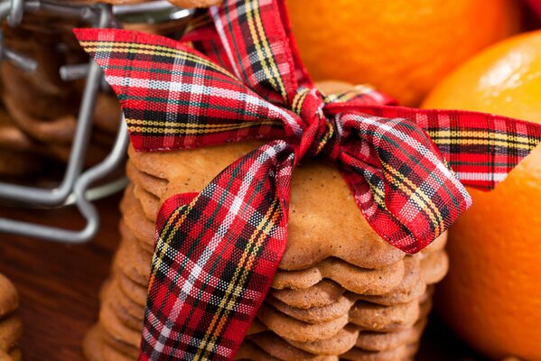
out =
{"type": "MultiPolygon", "coordinates": [[[[122,241],[102,292],[98,326],[86,340],[91,361],[115,359],[113,353],[137,356],[154,219],[163,201],[201,191],[258,144],[170,153],[129,150],[132,183],[121,205],[122,241]]],[[[306,162],[295,170],[288,229],[272,289],[238,358],[411,358],[431,307],[429,285],[447,271],[445,236],[413,256],[388,245],[360,214],[340,172],[323,162],[306,162]]]]}

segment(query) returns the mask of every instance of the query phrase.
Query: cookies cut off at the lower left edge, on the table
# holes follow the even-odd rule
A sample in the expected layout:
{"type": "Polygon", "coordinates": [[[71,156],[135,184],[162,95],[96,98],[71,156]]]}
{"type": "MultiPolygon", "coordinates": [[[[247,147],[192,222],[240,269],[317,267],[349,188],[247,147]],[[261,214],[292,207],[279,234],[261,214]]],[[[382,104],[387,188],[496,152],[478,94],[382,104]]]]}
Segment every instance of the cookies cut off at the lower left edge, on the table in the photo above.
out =
{"type": "Polygon", "coordinates": [[[23,359],[18,345],[23,323],[14,314],[18,307],[19,296],[14,285],[0,273],[0,361],[23,359]]]}

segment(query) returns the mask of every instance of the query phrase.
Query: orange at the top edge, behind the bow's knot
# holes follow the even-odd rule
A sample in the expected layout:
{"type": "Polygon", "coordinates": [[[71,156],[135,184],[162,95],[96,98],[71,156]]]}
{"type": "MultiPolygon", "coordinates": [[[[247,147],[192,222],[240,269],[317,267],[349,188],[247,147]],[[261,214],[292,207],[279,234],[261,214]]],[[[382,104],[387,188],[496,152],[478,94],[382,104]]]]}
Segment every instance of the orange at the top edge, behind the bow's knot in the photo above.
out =
{"type": "Polygon", "coordinates": [[[416,106],[457,65],[517,32],[518,0],[287,0],[314,80],[370,83],[416,106]]]}

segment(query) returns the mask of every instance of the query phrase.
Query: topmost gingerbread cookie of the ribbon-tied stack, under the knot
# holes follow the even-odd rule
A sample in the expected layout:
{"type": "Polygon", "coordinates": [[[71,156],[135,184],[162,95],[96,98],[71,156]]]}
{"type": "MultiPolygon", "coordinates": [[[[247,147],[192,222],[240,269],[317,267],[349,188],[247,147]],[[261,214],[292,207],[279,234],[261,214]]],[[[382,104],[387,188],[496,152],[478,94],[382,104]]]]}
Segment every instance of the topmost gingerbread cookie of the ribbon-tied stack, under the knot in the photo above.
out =
{"type": "MultiPolygon", "coordinates": [[[[163,202],[178,193],[201,191],[219,171],[258,144],[227,143],[167,153],[137,153],[130,148],[128,153],[139,171],[168,180],[167,188],[151,191],[163,202]]],[[[383,268],[405,256],[368,226],[340,172],[330,164],[306,162],[296,169],[291,194],[288,242],[280,269],[303,270],[330,257],[362,268],[383,268]],[[312,191],[322,188],[324,192],[312,191]],[[329,232],[337,224],[342,225],[340,233],[329,232]]]]}

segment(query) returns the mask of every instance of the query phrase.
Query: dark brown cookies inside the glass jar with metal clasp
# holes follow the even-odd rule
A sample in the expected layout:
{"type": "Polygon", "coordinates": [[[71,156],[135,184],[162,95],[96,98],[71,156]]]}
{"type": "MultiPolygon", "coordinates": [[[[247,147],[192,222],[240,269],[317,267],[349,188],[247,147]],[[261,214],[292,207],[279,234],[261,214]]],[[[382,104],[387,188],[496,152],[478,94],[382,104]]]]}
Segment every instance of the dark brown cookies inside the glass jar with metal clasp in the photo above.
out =
{"type": "MultiPolygon", "coordinates": [[[[20,27],[5,26],[6,44],[36,60],[38,69],[27,73],[9,61],[1,64],[0,127],[10,134],[8,139],[0,139],[1,175],[38,173],[45,160],[68,161],[84,82],[63,81],[60,68],[88,61],[71,33],[77,25],[64,21],[51,26],[41,17],[29,15],[20,27]],[[11,163],[18,166],[10,167],[11,163]]],[[[115,140],[119,114],[114,96],[98,96],[86,165],[107,155],[115,140]]]]}

